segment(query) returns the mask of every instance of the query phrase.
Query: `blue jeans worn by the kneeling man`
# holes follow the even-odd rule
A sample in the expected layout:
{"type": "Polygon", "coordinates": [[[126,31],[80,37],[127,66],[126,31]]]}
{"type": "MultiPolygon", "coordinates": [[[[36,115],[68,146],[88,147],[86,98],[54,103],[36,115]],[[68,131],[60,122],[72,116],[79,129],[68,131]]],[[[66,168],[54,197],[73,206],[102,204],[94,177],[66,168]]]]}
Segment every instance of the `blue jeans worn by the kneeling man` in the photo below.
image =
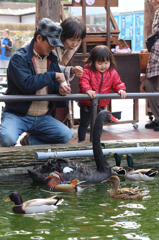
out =
{"type": "Polygon", "coordinates": [[[23,132],[30,133],[29,145],[67,143],[72,138],[71,130],[51,115],[33,117],[2,113],[0,126],[2,147],[16,145],[23,132]]]}

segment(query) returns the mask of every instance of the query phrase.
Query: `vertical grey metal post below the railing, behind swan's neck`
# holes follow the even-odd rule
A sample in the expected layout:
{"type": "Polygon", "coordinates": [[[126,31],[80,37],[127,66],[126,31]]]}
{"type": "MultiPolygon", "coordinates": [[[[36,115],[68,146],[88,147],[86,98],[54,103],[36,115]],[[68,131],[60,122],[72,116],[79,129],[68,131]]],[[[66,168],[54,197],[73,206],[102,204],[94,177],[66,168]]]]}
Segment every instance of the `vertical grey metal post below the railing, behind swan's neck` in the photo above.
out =
{"type": "Polygon", "coordinates": [[[98,99],[96,98],[91,99],[90,142],[93,142],[93,126],[95,123],[95,119],[97,117],[97,106],[98,106],[98,99]]]}

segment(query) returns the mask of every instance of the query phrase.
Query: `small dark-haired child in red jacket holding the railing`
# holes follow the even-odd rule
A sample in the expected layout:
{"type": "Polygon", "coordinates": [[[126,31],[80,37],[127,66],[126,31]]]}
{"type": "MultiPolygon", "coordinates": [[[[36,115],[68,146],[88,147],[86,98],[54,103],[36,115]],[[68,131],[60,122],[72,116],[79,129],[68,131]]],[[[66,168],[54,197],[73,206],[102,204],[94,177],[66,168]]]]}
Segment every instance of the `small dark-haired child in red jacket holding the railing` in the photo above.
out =
{"type": "MultiPolygon", "coordinates": [[[[113,90],[126,97],[125,84],[120,80],[115,70],[116,62],[113,54],[105,45],[94,47],[90,56],[86,60],[83,75],[79,78],[80,93],[87,93],[94,98],[96,93],[111,93],[113,90]]],[[[109,104],[109,99],[101,99],[98,101],[98,113],[104,110],[109,104]]],[[[90,100],[80,100],[80,125],[78,128],[78,141],[85,141],[87,128],[90,124],[90,100]]]]}

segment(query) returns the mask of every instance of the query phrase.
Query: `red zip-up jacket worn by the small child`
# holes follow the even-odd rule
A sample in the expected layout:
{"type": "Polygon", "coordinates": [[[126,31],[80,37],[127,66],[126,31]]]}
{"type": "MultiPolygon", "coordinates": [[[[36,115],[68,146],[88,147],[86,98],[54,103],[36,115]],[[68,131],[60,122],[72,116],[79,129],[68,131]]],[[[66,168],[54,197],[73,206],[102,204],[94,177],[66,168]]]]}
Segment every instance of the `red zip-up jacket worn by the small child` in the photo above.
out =
{"type": "MultiPolygon", "coordinates": [[[[94,90],[96,93],[111,93],[113,90],[118,93],[119,90],[126,90],[125,84],[120,80],[116,70],[108,69],[100,73],[99,71],[88,67],[84,67],[83,75],[79,78],[78,85],[79,93],[86,93],[87,90],[94,90]]],[[[90,100],[79,100],[86,106],[91,106],[90,100]]],[[[106,107],[109,104],[109,99],[101,99],[98,102],[98,107],[106,107]]]]}

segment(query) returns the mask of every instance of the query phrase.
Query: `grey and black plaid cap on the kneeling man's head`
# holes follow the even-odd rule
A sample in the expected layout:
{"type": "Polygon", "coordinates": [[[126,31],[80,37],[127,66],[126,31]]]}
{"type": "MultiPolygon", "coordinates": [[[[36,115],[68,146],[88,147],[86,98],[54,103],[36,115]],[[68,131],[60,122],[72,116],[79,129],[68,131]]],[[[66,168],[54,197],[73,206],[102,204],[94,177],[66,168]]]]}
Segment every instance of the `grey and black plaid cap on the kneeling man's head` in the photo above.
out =
{"type": "Polygon", "coordinates": [[[60,39],[62,27],[59,23],[56,23],[49,18],[42,18],[36,29],[41,35],[47,38],[51,46],[64,47],[60,39]]]}

